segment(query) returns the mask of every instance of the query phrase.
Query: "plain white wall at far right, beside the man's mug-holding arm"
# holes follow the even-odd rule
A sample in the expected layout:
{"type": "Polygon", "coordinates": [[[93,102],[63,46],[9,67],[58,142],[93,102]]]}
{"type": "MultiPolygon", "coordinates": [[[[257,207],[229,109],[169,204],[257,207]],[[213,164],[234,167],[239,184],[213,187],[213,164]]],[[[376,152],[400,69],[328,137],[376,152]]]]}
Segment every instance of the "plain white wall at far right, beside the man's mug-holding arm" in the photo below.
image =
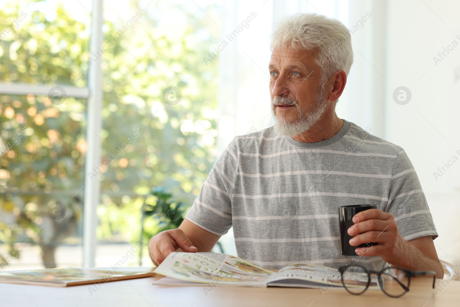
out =
{"type": "Polygon", "coordinates": [[[460,264],[460,161],[437,180],[433,172],[452,156],[460,158],[455,152],[460,152],[460,80],[454,75],[460,70],[460,46],[437,65],[433,57],[453,40],[460,44],[459,12],[454,0],[388,1],[385,48],[386,139],[402,146],[414,164],[439,233],[437,253],[455,264],[460,264]],[[408,104],[393,101],[399,86],[410,89],[408,104]]]}

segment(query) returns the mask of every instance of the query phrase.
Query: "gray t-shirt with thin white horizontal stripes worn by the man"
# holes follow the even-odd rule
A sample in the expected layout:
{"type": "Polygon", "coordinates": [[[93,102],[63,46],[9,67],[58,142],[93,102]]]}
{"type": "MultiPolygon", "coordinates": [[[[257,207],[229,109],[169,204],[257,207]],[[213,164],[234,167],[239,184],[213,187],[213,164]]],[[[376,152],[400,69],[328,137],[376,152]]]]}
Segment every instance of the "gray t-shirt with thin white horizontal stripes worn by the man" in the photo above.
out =
{"type": "Polygon", "coordinates": [[[274,127],[236,137],[186,218],[218,235],[233,226],[238,256],[262,267],[352,261],[381,269],[380,257],[340,254],[338,207],[352,204],[393,214],[406,240],[437,237],[404,150],[345,120],[339,133],[315,143],[274,127]]]}

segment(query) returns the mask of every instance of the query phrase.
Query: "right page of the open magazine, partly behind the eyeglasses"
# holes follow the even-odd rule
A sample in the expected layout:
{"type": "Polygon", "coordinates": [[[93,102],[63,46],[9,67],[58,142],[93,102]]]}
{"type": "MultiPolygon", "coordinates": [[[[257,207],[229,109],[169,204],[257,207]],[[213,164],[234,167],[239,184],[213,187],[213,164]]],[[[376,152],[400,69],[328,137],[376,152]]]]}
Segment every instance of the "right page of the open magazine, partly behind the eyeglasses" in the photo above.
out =
{"type": "MultiPolygon", "coordinates": [[[[350,276],[350,275],[348,275],[350,276]]],[[[367,282],[362,274],[356,273],[347,284],[352,282],[367,282]]],[[[320,266],[308,263],[295,263],[285,266],[280,269],[276,275],[271,276],[267,280],[268,286],[282,286],[282,287],[306,287],[306,288],[328,288],[343,287],[342,279],[339,270],[328,266],[320,266]]],[[[369,290],[379,290],[377,284],[377,277],[371,275],[371,283],[369,290]]]]}

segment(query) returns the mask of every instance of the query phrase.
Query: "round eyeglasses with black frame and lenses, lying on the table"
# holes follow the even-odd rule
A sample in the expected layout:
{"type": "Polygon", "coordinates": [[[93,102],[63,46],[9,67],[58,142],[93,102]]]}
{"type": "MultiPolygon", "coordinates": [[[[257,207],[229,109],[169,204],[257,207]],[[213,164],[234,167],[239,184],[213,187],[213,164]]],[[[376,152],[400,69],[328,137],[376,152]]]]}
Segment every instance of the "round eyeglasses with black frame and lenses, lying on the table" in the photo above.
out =
{"type": "Polygon", "coordinates": [[[400,267],[386,267],[380,272],[369,271],[363,266],[352,264],[339,267],[345,290],[351,294],[360,295],[369,286],[377,286],[388,296],[401,297],[409,291],[410,278],[413,276],[433,275],[433,289],[436,279],[434,271],[410,271],[400,267]],[[376,274],[377,276],[371,276],[376,274]]]}

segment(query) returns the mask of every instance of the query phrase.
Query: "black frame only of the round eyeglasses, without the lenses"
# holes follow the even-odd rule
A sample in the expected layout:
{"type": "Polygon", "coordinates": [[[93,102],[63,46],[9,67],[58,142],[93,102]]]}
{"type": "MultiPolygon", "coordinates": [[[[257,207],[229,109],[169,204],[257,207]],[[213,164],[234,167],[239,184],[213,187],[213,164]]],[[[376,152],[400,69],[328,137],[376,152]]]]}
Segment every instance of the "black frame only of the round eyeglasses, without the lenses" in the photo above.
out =
{"type": "MultiPolygon", "coordinates": [[[[381,270],[380,272],[379,271],[371,271],[371,270],[368,270],[367,268],[365,268],[364,266],[360,266],[360,265],[357,265],[357,264],[351,264],[351,265],[346,265],[346,266],[340,266],[339,267],[339,272],[340,272],[340,275],[341,275],[341,280],[342,280],[342,284],[344,285],[344,288],[345,290],[347,290],[348,293],[351,293],[351,294],[354,294],[354,295],[361,295],[363,294],[366,290],[368,290],[368,287],[371,283],[371,274],[377,274],[377,283],[379,285],[379,288],[380,290],[383,291],[383,293],[385,293],[386,295],[390,296],[390,297],[401,297],[403,296],[404,294],[406,294],[406,292],[409,291],[409,287],[410,287],[410,278],[411,277],[415,277],[415,276],[423,276],[423,275],[433,275],[433,289],[434,289],[434,283],[436,281],[436,272],[434,271],[411,271],[411,270],[408,270],[408,269],[403,269],[402,267],[398,267],[398,266],[389,266],[389,267],[385,267],[383,270],[381,270]],[[347,268],[350,268],[350,267],[360,267],[364,270],[364,272],[366,272],[368,274],[368,283],[366,284],[366,288],[364,290],[362,290],[362,292],[359,292],[359,293],[355,293],[355,292],[351,292],[350,290],[348,290],[348,288],[345,286],[345,281],[344,281],[344,271],[347,269],[347,268]],[[406,273],[406,276],[408,278],[408,283],[407,283],[407,287],[402,284],[397,278],[393,278],[395,281],[397,281],[398,284],[400,284],[403,289],[404,289],[404,292],[400,295],[391,295],[389,293],[387,293],[383,288],[382,286],[380,285],[380,275],[388,270],[389,268],[391,269],[397,269],[397,270],[401,270],[403,272],[406,273]]],[[[390,275],[391,276],[391,275],[390,275]]]]}

